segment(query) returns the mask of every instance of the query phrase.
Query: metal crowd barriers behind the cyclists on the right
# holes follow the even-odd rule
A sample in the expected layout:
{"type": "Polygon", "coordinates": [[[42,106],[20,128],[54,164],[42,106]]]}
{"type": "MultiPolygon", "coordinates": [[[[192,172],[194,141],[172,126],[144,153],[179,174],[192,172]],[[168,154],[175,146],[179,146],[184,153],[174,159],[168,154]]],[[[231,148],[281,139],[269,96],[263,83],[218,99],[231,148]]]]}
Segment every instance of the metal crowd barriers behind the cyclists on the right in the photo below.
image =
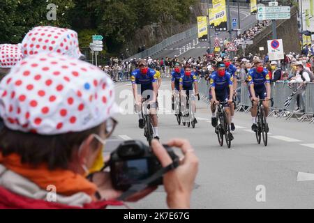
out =
{"type": "MultiPolygon", "coordinates": [[[[271,83],[271,98],[274,98],[274,106],[270,108],[269,116],[276,118],[285,117],[287,120],[297,118],[297,121],[309,121],[314,123],[314,83],[308,83],[304,91],[298,90],[292,95],[292,92],[297,90],[299,84],[293,84],[292,89],[287,85],[287,81],[279,81],[271,83]],[[291,96],[291,97],[290,97],[291,96]],[[291,98],[290,105],[285,107],[287,98],[291,98]],[[301,110],[304,112],[294,111],[297,98],[299,97],[301,110]]],[[[201,99],[209,104],[209,82],[204,78],[199,80],[199,89],[201,99]]],[[[252,102],[248,95],[248,84],[238,81],[237,89],[237,112],[249,112],[252,107],[252,102]]]]}

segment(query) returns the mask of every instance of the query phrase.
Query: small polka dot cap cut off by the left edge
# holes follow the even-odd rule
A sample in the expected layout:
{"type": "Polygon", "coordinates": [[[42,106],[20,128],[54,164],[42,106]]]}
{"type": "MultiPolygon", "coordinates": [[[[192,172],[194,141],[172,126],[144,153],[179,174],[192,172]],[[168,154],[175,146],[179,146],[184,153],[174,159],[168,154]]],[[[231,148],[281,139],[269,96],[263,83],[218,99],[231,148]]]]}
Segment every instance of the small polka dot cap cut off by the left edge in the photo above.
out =
{"type": "Polygon", "coordinates": [[[0,68],[13,68],[23,57],[20,44],[0,45],[0,68]]]}

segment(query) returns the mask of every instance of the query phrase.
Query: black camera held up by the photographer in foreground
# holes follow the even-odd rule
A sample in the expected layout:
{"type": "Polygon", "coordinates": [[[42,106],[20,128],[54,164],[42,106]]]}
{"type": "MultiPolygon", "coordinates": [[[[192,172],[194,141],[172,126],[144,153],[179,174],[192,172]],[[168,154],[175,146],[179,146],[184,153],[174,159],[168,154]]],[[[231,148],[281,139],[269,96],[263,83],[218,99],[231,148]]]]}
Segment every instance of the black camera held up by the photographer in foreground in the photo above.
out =
{"type": "MultiPolygon", "coordinates": [[[[173,167],[179,166],[179,157],[172,148],[163,145],[173,161],[173,167]]],[[[140,184],[162,169],[158,158],[149,146],[142,141],[124,141],[110,155],[110,175],[112,185],[117,190],[128,190],[132,185],[140,184]]],[[[163,184],[163,177],[157,178],[148,186],[163,184]]]]}

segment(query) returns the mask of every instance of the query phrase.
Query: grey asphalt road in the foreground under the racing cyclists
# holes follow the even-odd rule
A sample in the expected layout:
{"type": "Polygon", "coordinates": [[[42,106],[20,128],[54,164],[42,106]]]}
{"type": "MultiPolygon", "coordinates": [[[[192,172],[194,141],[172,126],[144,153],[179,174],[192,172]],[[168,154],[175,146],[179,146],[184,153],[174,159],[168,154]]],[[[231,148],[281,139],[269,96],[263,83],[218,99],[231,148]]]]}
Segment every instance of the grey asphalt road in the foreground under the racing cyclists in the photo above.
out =
{"type": "MultiPolygon", "coordinates": [[[[163,79],[161,90],[170,89],[170,80],[163,79]]],[[[130,83],[116,84],[117,102],[122,109],[133,110],[130,83]],[[129,100],[126,100],[129,98],[129,100]],[[129,107],[126,104],[129,103],[129,107]]],[[[251,132],[251,116],[239,112],[235,115],[232,148],[218,146],[211,127],[211,114],[204,102],[197,102],[198,123],[195,129],[177,125],[169,111],[169,98],[161,98],[161,142],[174,137],[188,139],[200,158],[200,169],[193,190],[191,208],[313,208],[314,179],[303,178],[302,173],[314,174],[314,125],[284,118],[269,118],[269,145],[257,145],[251,132]],[[263,188],[264,201],[257,201],[263,188]],[[258,196],[257,196],[258,197],[258,196]]],[[[145,141],[143,130],[137,125],[135,114],[117,116],[119,125],[114,136],[107,141],[105,154],[109,154],[126,139],[145,141]]],[[[163,187],[158,187],[145,199],[128,203],[131,208],[167,208],[163,187]]]]}

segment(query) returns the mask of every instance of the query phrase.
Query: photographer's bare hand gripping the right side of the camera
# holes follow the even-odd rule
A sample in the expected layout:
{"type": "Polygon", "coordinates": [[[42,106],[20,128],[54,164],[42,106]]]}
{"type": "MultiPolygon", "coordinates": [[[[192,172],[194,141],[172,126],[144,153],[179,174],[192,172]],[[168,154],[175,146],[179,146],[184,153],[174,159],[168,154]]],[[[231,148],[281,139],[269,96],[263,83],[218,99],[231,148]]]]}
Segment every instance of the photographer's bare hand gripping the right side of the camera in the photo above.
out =
{"type": "MultiPolygon", "coordinates": [[[[163,176],[163,185],[167,192],[167,205],[169,208],[190,208],[190,195],[193,190],[195,176],[198,169],[198,158],[193,153],[193,148],[185,139],[172,139],[169,146],[180,148],[184,158],[177,169],[169,171],[163,176]]],[[[163,167],[172,163],[170,155],[159,141],[151,142],[156,157],[163,167]]]]}

